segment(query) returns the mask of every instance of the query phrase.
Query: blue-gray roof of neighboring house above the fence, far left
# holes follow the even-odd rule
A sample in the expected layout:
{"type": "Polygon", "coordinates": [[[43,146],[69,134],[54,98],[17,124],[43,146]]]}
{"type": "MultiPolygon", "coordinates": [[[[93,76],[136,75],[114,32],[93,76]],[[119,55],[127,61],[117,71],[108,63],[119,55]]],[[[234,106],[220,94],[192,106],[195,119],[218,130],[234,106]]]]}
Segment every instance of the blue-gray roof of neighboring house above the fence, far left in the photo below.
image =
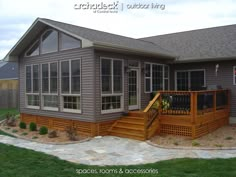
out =
{"type": "Polygon", "coordinates": [[[0,80],[18,78],[18,65],[15,62],[0,61],[0,80]]]}

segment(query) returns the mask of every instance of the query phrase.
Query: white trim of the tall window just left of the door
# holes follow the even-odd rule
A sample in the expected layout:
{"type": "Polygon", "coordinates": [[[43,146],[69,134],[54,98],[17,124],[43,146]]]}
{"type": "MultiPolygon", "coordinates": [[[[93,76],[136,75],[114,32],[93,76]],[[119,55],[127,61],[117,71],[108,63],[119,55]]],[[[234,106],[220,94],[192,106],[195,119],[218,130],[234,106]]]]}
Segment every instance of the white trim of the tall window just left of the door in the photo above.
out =
{"type": "Polygon", "coordinates": [[[117,113],[124,111],[124,60],[120,58],[111,58],[111,57],[100,57],[100,89],[101,89],[101,114],[108,114],[108,113],[117,113]],[[102,93],[102,59],[111,60],[111,93],[102,93]],[[122,62],[122,93],[115,93],[113,88],[113,61],[118,60],[122,62]],[[121,105],[119,109],[109,109],[109,110],[102,110],[102,97],[108,96],[120,96],[121,105]]]}

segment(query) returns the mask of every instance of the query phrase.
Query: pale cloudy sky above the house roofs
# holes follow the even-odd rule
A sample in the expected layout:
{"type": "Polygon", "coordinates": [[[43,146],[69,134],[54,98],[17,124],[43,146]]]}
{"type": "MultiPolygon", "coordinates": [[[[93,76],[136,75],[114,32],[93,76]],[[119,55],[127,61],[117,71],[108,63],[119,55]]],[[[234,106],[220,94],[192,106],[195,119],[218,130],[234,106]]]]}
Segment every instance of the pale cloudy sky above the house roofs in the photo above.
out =
{"type": "Polygon", "coordinates": [[[141,38],[236,24],[236,1],[0,0],[0,59],[38,17],[141,38]],[[116,9],[102,13],[87,9],[88,4],[93,8],[96,4],[112,4],[110,7],[116,9]]]}

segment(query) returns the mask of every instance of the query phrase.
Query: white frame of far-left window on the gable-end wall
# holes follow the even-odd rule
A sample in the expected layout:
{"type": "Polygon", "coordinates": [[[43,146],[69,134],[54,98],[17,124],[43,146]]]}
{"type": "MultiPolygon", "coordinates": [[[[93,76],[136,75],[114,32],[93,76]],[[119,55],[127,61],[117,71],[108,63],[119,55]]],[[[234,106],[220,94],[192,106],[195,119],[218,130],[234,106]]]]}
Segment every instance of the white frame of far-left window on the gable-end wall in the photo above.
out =
{"type": "Polygon", "coordinates": [[[40,65],[39,64],[30,64],[30,65],[25,65],[25,76],[26,76],[26,70],[27,67],[30,66],[30,70],[31,70],[31,91],[27,92],[27,82],[26,82],[26,77],[25,77],[25,107],[29,108],[29,109],[40,109],[40,94],[39,94],[39,90],[40,90],[40,65]],[[38,92],[34,92],[33,91],[33,66],[38,66],[38,92]],[[32,106],[32,105],[28,105],[28,96],[30,95],[36,95],[39,96],[39,105],[38,106],[32,106]]]}

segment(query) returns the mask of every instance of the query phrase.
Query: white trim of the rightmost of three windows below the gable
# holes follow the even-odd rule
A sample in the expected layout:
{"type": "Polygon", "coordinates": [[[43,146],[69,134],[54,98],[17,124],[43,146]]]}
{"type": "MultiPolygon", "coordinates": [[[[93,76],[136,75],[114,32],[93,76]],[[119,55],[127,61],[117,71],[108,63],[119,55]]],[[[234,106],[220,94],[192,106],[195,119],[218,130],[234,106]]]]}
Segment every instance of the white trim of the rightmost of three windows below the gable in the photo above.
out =
{"type": "Polygon", "coordinates": [[[70,60],[61,60],[60,61],[60,87],[62,86],[61,85],[61,82],[62,82],[62,72],[61,72],[61,63],[62,62],[65,62],[65,61],[69,61],[69,93],[62,93],[62,89],[60,88],[60,92],[61,92],[61,98],[60,98],[60,103],[61,103],[61,111],[62,112],[69,112],[69,113],[82,113],[82,97],[81,97],[81,80],[82,80],[82,72],[81,72],[81,66],[82,66],[82,59],[81,58],[77,58],[77,59],[70,59],[70,60]],[[80,93],[79,94],[73,94],[71,93],[71,61],[74,61],[74,60],[80,60],[80,93]],[[63,97],[64,96],[79,96],[80,97],[80,109],[66,109],[64,108],[64,99],[63,97]]]}

